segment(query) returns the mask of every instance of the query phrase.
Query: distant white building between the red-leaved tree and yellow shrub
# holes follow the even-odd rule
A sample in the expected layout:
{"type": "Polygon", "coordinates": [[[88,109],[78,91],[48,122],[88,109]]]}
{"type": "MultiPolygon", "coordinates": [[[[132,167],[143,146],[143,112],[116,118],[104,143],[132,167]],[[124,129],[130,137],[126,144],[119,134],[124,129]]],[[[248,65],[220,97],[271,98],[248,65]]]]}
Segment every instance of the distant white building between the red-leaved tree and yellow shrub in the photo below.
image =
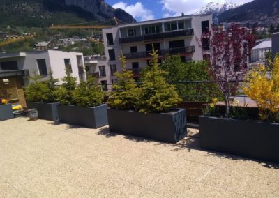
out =
{"type": "Polygon", "coordinates": [[[271,52],[271,40],[265,40],[252,48],[251,61],[264,63],[266,52],[271,52]]]}

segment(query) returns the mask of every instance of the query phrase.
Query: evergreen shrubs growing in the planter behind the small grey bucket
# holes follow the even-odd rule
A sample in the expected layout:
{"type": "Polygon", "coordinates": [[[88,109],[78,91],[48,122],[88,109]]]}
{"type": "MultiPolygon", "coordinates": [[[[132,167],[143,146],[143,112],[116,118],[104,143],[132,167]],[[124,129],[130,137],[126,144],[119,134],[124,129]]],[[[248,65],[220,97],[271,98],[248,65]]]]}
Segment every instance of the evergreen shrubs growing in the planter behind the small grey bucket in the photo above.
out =
{"type": "Polygon", "coordinates": [[[50,79],[42,81],[42,77],[34,73],[29,84],[24,88],[25,98],[31,102],[56,102],[55,92],[58,79],[54,79],[50,70],[50,79]]]}

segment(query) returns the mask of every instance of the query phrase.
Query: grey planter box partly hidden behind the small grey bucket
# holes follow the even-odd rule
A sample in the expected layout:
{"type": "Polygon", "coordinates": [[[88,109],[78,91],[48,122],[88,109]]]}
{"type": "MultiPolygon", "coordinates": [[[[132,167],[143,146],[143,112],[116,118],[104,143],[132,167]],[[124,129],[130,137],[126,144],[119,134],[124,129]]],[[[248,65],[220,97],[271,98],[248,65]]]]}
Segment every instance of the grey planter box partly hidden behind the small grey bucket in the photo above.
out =
{"type": "Polygon", "coordinates": [[[57,105],[59,102],[45,103],[45,102],[29,102],[27,101],[27,107],[29,109],[38,109],[40,119],[49,121],[58,120],[57,105]]]}

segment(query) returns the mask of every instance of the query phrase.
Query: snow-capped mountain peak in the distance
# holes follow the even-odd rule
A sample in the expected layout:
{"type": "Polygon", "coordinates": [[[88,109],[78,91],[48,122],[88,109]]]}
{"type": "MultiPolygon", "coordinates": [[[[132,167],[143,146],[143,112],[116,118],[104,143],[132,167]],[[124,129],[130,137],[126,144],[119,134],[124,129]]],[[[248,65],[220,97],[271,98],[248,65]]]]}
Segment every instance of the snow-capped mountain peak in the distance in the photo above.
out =
{"type": "Polygon", "coordinates": [[[238,7],[236,3],[207,3],[206,6],[203,6],[197,13],[196,15],[204,15],[204,14],[209,14],[212,13],[213,18],[217,17],[220,15],[220,13],[223,13],[227,10],[231,10],[233,8],[238,7]]]}

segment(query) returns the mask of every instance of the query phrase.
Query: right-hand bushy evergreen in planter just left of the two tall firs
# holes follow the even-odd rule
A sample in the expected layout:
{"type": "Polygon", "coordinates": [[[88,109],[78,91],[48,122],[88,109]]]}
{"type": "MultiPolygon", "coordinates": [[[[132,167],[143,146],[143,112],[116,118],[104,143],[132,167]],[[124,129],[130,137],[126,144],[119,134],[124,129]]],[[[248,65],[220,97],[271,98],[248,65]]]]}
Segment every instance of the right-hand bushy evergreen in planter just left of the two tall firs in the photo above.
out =
{"type": "Polygon", "coordinates": [[[96,78],[87,75],[87,81],[80,82],[80,85],[73,91],[73,100],[80,107],[96,107],[102,105],[104,94],[98,87],[96,78]]]}

